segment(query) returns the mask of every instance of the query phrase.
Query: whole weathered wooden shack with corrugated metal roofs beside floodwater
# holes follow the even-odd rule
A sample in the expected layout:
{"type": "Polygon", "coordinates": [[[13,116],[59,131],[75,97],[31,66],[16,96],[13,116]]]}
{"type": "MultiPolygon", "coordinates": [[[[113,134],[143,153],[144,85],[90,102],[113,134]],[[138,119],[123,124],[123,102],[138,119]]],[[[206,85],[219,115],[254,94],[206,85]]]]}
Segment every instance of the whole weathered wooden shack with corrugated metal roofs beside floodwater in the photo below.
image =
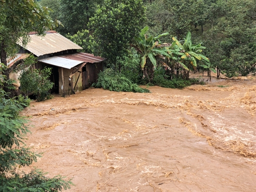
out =
{"type": "Polygon", "coordinates": [[[55,31],[43,37],[30,33],[31,41],[20,53],[37,57],[35,68],[51,67],[52,92],[70,94],[81,91],[96,82],[97,74],[104,70],[104,59],[93,54],[79,52],[82,48],[55,31]]]}

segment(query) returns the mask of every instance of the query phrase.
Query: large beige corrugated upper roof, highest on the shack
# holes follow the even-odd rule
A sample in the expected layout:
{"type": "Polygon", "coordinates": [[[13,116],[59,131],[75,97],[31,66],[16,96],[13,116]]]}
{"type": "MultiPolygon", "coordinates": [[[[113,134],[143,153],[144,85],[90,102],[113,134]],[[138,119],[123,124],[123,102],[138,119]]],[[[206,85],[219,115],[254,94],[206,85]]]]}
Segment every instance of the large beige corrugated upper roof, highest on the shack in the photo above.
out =
{"type": "MultiPolygon", "coordinates": [[[[43,37],[33,33],[29,36],[31,37],[31,41],[25,48],[37,57],[68,49],[82,49],[80,46],[55,31],[46,32],[46,35],[43,37]]],[[[22,46],[20,42],[18,42],[18,44],[22,46]]]]}

